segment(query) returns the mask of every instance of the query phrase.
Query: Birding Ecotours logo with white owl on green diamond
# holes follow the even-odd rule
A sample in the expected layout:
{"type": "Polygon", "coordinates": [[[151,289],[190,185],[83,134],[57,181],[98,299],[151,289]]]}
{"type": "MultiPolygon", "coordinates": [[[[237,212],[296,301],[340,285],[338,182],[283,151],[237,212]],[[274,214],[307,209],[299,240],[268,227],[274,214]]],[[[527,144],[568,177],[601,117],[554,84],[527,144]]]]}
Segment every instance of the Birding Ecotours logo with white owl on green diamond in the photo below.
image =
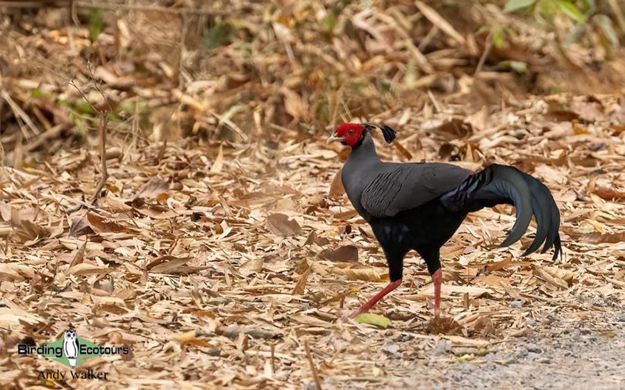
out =
{"type": "Polygon", "coordinates": [[[41,344],[40,346],[18,344],[17,353],[18,355],[42,355],[74,370],[89,357],[127,355],[130,353],[130,348],[128,346],[99,346],[78,337],[75,329],[68,329],[63,332],[63,338],[50,344],[41,344]]]}

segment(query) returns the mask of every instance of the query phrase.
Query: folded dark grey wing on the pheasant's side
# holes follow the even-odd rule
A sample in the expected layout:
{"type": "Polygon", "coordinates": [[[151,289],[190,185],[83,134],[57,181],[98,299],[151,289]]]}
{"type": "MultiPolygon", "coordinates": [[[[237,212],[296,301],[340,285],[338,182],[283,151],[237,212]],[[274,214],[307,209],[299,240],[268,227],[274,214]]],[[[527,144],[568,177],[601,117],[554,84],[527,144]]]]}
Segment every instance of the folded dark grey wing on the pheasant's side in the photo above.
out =
{"type": "Polygon", "coordinates": [[[471,171],[452,164],[384,164],[360,196],[373,217],[392,217],[456,188],[471,171]]]}

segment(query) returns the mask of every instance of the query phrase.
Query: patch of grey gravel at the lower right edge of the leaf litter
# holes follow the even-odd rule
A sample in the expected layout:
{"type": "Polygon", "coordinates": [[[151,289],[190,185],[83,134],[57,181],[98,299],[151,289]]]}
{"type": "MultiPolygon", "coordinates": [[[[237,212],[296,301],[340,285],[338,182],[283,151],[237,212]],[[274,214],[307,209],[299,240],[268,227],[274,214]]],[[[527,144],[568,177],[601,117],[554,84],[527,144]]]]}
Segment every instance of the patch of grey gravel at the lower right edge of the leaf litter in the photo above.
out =
{"type": "MultiPolygon", "coordinates": [[[[608,306],[608,305],[606,305],[608,306]]],[[[606,307],[592,321],[553,316],[549,330],[506,350],[442,368],[437,389],[625,389],[625,310],[606,307]]],[[[441,348],[437,346],[437,348],[441,348]]],[[[435,352],[435,351],[434,351],[435,352]]]]}

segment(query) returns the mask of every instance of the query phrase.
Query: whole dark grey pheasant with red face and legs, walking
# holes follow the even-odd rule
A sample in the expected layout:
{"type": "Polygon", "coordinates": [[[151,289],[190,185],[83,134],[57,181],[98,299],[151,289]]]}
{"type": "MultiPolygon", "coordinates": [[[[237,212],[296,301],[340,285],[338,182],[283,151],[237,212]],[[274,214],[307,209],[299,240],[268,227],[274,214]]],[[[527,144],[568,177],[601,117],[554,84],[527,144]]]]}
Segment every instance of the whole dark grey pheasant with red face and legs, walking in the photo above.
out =
{"type": "Polygon", "coordinates": [[[452,164],[396,163],[378,158],[369,134],[381,130],[387,143],[395,130],[373,124],[342,124],[328,142],[351,146],[342,170],[342,182],[351,204],[371,226],[387,260],[390,283],[349,314],[367,312],[401,285],[403,258],[414,249],[425,260],[434,283],[434,314],[440,315],[440,248],[460,227],[469,212],[499,204],[514,205],[516,221],[501,246],[518,241],[535,217],[533,243],[523,255],[542,245],[542,253],[554,248],[562,253],[560,212],[549,189],[515,167],[493,164],[472,173],[452,164]]]}

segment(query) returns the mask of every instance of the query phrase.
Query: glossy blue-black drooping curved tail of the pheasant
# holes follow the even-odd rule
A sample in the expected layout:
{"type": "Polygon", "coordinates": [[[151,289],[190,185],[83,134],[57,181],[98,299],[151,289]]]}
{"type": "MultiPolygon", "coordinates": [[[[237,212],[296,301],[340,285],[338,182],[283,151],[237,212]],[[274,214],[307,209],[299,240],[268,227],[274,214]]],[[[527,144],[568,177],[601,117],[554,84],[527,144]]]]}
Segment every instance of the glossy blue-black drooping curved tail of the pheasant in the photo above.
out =
{"type": "Polygon", "coordinates": [[[549,189],[533,176],[515,167],[493,164],[474,173],[456,189],[441,196],[449,210],[472,212],[500,203],[514,205],[517,221],[501,246],[510,246],[527,230],[532,215],[536,219],[536,237],[523,255],[537,251],[544,243],[542,253],[553,246],[553,259],[562,253],[560,243],[560,211],[549,189]]]}

